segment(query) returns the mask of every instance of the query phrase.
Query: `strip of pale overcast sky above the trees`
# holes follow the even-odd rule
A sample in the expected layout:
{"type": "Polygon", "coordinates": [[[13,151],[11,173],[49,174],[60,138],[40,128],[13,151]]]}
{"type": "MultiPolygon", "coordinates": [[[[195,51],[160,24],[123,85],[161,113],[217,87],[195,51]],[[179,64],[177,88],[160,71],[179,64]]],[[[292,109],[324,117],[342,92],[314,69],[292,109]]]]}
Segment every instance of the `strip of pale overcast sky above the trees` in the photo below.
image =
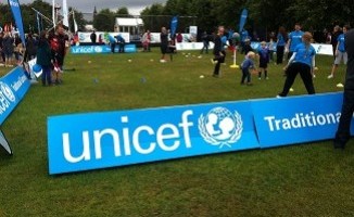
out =
{"type": "MultiPolygon", "coordinates": [[[[18,0],[21,4],[31,3],[33,0],[18,0]]],[[[43,0],[48,3],[52,3],[52,0],[43,0]]],[[[139,12],[150,7],[153,3],[166,3],[167,0],[66,0],[67,7],[72,7],[83,13],[93,12],[96,7],[98,11],[101,9],[113,9],[127,8],[129,13],[138,15],[139,12]]],[[[62,0],[55,0],[55,3],[63,4],[62,0]]]]}

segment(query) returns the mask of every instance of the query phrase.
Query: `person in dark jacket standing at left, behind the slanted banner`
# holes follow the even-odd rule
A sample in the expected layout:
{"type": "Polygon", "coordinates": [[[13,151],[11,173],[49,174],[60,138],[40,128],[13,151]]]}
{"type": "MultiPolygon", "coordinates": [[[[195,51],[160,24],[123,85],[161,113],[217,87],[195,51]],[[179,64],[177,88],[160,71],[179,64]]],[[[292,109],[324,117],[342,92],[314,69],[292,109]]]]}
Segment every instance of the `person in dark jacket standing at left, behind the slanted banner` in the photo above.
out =
{"type": "Polygon", "coordinates": [[[37,64],[42,68],[41,82],[46,86],[46,81],[48,86],[52,85],[52,76],[51,76],[51,51],[48,41],[48,34],[46,30],[40,33],[38,48],[37,48],[37,64]]]}

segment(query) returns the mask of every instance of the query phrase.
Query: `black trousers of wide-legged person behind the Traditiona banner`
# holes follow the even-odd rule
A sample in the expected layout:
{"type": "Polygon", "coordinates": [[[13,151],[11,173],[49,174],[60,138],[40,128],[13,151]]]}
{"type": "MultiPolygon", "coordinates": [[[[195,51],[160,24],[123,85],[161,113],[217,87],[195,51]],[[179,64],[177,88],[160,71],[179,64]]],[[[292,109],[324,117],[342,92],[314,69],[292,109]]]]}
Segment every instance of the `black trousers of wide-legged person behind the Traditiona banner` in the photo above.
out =
{"type": "Polygon", "coordinates": [[[303,80],[308,94],[315,94],[315,88],[313,82],[313,76],[311,74],[311,67],[304,63],[291,63],[286,72],[287,79],[283,85],[282,92],[279,93],[280,97],[287,97],[291,86],[300,73],[301,79],[303,80]]]}

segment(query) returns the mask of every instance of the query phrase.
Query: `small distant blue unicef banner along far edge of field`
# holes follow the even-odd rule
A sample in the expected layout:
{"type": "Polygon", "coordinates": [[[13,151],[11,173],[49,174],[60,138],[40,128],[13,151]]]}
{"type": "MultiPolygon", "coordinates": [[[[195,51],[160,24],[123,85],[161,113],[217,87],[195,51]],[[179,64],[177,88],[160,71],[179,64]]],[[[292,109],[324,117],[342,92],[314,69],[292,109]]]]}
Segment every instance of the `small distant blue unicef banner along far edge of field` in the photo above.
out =
{"type": "MultiPolygon", "coordinates": [[[[119,46],[115,46],[115,52],[118,52],[119,46]]],[[[137,46],[134,43],[127,43],[124,47],[126,53],[136,53],[137,46]]],[[[71,52],[74,54],[94,54],[94,53],[111,53],[110,46],[73,46],[71,52]]]]}

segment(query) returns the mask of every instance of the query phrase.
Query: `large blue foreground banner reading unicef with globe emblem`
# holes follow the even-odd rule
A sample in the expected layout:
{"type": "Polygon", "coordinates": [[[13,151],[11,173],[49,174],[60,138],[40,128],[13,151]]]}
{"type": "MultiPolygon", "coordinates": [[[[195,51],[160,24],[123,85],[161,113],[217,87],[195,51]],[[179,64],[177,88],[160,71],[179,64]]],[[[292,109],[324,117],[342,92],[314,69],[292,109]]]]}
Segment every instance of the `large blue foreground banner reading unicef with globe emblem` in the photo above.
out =
{"type": "Polygon", "coordinates": [[[260,149],[250,102],[48,118],[49,173],[260,149]]]}

